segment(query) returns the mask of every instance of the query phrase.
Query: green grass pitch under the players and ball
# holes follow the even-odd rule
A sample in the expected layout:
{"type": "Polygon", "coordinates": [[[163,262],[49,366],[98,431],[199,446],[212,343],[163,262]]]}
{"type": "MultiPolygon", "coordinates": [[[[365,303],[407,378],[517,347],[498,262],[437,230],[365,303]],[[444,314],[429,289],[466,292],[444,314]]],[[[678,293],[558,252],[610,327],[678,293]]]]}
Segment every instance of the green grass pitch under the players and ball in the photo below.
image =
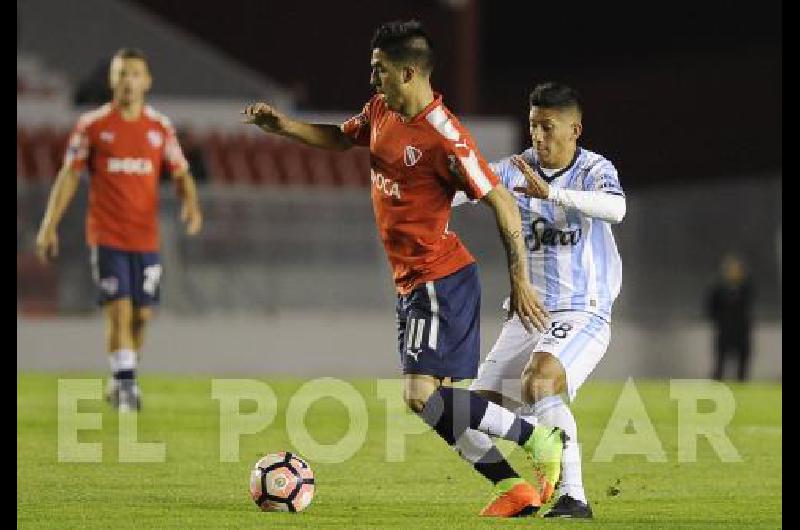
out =
{"type": "MultiPolygon", "coordinates": [[[[387,413],[374,380],[348,381],[363,396],[368,411],[366,440],[352,458],[321,463],[304,455],[316,473],[317,494],[311,507],[299,514],[261,513],[248,495],[249,471],[265,453],[297,450],[286,432],[285,413],[304,381],[263,382],[277,395],[277,416],[263,431],[241,437],[238,462],[220,462],[220,404],[211,397],[210,378],[144,375],[145,408],[138,416],[138,440],[163,442],[165,461],[120,462],[117,414],[102,401],[86,400],[80,402],[79,411],[101,413],[102,428],[82,430],[78,440],[102,442],[102,462],[75,463],[60,462],[58,456],[58,376],[18,374],[18,526],[567,528],[585,524],[540,517],[477,517],[488,498],[488,483],[432,432],[406,438],[404,462],[387,461],[387,429],[397,428],[403,420],[417,420],[396,406],[387,413]]],[[[705,438],[697,442],[696,462],[679,462],[678,405],[670,399],[669,383],[636,381],[635,385],[666,462],[648,462],[642,455],[593,461],[623,384],[584,386],[574,411],[586,491],[595,512],[594,523],[589,524],[649,529],[781,526],[780,385],[730,385],[736,412],[726,432],[742,459],[734,463],[722,462],[705,438]]],[[[704,407],[710,405],[700,402],[701,411],[704,407]]],[[[241,410],[254,409],[249,402],[241,410]]],[[[304,424],[318,443],[334,444],[346,434],[347,418],[345,407],[326,397],[308,409],[304,424]]],[[[512,451],[505,442],[499,445],[512,451]]],[[[511,452],[510,459],[519,471],[526,471],[520,451],[511,452]]]]}

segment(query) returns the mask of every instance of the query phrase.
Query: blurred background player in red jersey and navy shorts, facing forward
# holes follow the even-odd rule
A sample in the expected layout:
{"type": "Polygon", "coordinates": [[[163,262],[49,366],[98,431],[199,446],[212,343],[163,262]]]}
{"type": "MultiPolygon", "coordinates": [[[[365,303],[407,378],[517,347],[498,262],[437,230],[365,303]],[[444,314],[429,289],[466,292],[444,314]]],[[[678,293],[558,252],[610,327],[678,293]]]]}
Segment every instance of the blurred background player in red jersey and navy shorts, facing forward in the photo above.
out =
{"type": "Polygon", "coordinates": [[[181,219],[196,234],[202,224],[194,179],[169,120],[145,105],[152,84],[141,51],[123,48],[111,60],[113,99],[78,120],[42,219],[36,250],[58,255],[58,223],[89,173],[86,243],[107,322],[112,378],[106,397],[120,410],[141,408],[136,362],[145,325],[158,302],[158,179],[167,164],[183,200],[181,219]]]}

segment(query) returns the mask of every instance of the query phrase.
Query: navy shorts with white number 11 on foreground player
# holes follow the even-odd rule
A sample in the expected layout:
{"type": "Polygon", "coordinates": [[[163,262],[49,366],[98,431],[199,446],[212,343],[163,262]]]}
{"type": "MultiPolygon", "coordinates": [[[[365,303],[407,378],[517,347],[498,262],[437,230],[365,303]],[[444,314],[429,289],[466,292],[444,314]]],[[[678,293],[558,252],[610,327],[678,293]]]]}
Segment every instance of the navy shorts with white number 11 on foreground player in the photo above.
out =
{"type": "Polygon", "coordinates": [[[404,374],[472,379],[480,361],[478,266],[397,295],[397,346],[404,374]]]}

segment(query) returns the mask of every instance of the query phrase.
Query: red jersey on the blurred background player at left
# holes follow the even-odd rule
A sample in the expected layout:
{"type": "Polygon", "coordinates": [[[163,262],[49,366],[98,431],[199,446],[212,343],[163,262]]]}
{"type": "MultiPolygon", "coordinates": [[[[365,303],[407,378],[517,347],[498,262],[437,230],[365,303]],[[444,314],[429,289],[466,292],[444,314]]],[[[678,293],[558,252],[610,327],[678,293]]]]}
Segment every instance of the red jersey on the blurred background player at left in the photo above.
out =
{"type": "Polygon", "coordinates": [[[188,169],[175,129],[149,106],[123,119],[113,103],[87,112],[70,136],[64,164],[89,172],[86,242],[131,252],[158,251],[158,180],[166,162],[188,169]]]}

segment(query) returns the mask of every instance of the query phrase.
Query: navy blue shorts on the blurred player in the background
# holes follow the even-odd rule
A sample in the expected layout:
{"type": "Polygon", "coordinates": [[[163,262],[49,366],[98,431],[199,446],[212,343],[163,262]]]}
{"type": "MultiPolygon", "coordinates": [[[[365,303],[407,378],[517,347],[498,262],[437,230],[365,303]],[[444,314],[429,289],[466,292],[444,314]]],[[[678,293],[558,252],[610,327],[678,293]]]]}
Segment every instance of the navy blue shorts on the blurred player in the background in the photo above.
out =
{"type": "Polygon", "coordinates": [[[91,247],[92,279],[98,302],[130,298],[135,306],[158,303],[161,259],[158,252],[128,252],[102,245],[91,247]]]}

